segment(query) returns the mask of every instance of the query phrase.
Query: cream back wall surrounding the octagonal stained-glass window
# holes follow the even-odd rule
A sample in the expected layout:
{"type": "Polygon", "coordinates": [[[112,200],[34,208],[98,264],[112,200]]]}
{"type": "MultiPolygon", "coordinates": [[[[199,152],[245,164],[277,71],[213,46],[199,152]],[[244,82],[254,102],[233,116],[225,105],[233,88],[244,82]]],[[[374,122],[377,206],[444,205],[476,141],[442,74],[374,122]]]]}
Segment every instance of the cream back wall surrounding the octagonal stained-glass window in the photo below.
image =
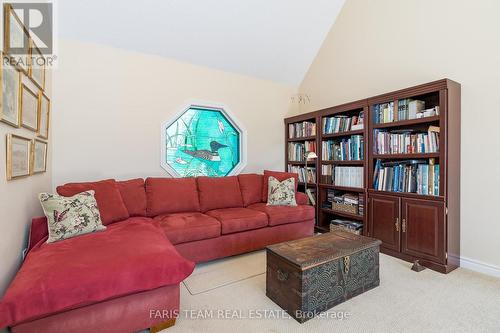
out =
{"type": "Polygon", "coordinates": [[[55,185],[167,176],[160,167],[160,125],[192,99],[227,105],[246,127],[245,172],[283,169],[283,118],[294,88],[71,40],[60,40],[58,56],[55,185]]]}

